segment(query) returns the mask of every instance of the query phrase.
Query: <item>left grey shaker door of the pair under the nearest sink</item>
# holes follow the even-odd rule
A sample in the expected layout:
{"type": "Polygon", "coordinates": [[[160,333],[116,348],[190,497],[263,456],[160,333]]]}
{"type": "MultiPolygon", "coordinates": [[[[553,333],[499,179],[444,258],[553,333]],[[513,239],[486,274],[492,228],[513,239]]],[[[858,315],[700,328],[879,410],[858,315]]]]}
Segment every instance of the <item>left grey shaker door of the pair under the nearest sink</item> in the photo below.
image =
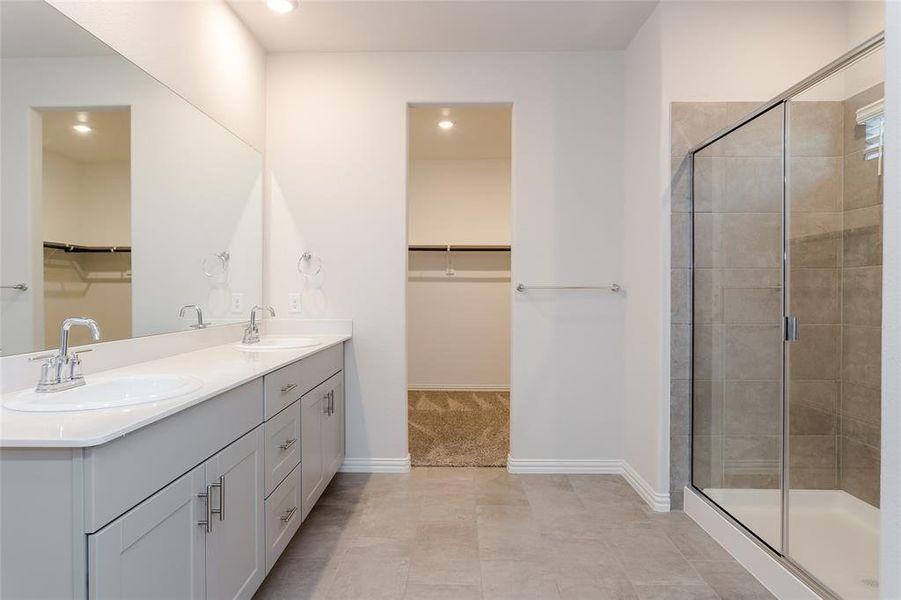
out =
{"type": "Polygon", "coordinates": [[[206,597],[203,466],[88,536],[90,598],[206,597]]]}

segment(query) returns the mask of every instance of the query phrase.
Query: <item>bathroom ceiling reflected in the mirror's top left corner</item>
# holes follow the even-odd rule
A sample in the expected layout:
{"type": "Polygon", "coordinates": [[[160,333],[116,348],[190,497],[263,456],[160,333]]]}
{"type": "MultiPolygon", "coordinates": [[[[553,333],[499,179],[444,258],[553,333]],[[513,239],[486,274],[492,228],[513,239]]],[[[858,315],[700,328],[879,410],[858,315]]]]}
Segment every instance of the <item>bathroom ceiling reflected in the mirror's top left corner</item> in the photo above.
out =
{"type": "Polygon", "coordinates": [[[46,2],[0,1],[3,58],[110,54],[115,52],[46,2]]]}

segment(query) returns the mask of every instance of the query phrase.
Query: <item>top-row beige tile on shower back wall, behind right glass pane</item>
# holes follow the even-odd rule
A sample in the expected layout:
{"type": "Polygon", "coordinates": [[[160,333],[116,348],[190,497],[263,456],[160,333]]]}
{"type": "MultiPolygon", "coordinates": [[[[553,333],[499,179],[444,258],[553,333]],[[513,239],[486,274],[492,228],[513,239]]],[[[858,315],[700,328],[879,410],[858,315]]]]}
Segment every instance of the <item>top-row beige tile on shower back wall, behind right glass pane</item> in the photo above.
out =
{"type": "Polygon", "coordinates": [[[841,102],[792,101],[789,105],[789,148],[792,156],[841,156],[841,102]]]}

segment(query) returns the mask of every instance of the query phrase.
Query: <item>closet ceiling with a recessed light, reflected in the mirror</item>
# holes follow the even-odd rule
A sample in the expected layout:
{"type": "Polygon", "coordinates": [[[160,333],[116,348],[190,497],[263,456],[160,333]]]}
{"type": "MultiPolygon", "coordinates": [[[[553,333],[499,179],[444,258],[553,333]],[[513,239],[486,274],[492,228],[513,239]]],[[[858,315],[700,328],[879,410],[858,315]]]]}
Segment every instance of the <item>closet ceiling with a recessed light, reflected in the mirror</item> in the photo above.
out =
{"type": "Polygon", "coordinates": [[[129,160],[131,113],[128,109],[41,111],[44,149],[82,162],[129,160]],[[78,133],[72,126],[85,123],[92,129],[78,133]]]}

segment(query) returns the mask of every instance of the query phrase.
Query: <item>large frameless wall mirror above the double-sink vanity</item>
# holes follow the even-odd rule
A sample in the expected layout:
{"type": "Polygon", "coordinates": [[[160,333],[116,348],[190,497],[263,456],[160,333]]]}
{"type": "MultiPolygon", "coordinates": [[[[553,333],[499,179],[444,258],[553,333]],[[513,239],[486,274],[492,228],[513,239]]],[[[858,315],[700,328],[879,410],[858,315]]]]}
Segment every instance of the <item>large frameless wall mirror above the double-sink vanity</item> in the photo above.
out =
{"type": "Polygon", "coordinates": [[[0,354],[246,320],[259,152],[45,2],[0,27],[0,354]]]}

